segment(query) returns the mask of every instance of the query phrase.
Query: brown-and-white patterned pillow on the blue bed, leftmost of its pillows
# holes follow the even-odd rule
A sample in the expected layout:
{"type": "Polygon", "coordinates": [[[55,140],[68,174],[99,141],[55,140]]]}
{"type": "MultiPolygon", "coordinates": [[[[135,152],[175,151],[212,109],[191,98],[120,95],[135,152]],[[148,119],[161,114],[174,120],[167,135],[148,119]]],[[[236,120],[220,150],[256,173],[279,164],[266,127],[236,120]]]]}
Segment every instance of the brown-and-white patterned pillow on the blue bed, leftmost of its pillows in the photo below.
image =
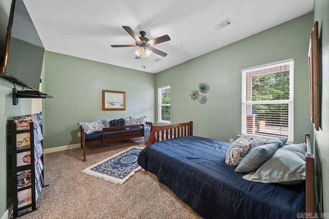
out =
{"type": "Polygon", "coordinates": [[[250,137],[248,135],[236,139],[227,149],[225,163],[228,166],[237,166],[250,151],[250,137]]]}

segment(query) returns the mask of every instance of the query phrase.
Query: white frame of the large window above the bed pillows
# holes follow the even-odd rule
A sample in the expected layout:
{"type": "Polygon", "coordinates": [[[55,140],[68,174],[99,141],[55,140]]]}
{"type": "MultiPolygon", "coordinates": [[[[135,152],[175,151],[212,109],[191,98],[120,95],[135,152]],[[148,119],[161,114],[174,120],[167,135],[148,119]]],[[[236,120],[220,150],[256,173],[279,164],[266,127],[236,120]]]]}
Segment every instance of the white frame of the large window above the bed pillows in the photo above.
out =
{"type": "MultiPolygon", "coordinates": [[[[251,68],[245,68],[242,69],[242,113],[241,113],[241,133],[242,135],[250,135],[251,137],[263,137],[265,139],[273,139],[273,138],[280,138],[279,135],[276,135],[274,133],[268,132],[267,134],[261,134],[261,133],[249,133],[247,131],[247,105],[256,105],[256,104],[288,104],[288,143],[294,142],[294,59],[288,59],[283,60],[279,62],[269,63],[261,66],[251,67],[251,68]],[[248,72],[254,72],[254,71],[260,71],[262,69],[270,69],[275,66],[280,66],[283,64],[289,64],[289,99],[287,100],[259,100],[259,101],[253,101],[252,100],[252,86],[247,83],[252,83],[251,78],[254,76],[261,76],[261,75],[267,75],[265,74],[259,74],[259,75],[252,75],[247,77],[248,72]],[[247,90],[249,89],[249,90],[247,90]],[[250,96],[247,100],[247,93],[249,93],[250,96]],[[272,135],[271,135],[272,134],[272,135]]],[[[273,72],[271,72],[273,73],[273,72]]],[[[268,74],[271,74],[268,73],[268,74]]],[[[251,114],[253,115],[253,114],[251,114]]]]}

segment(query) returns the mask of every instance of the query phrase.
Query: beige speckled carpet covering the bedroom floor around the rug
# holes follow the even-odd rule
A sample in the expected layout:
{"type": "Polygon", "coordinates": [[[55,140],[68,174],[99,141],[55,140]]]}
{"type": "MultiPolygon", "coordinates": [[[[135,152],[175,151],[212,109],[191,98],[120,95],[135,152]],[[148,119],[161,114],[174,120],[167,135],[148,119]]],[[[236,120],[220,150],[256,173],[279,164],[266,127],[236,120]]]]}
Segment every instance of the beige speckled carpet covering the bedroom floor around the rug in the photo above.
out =
{"type": "Polygon", "coordinates": [[[143,139],[45,154],[45,182],[38,210],[20,218],[200,218],[157,177],[143,169],[117,185],[80,171],[143,139]]]}

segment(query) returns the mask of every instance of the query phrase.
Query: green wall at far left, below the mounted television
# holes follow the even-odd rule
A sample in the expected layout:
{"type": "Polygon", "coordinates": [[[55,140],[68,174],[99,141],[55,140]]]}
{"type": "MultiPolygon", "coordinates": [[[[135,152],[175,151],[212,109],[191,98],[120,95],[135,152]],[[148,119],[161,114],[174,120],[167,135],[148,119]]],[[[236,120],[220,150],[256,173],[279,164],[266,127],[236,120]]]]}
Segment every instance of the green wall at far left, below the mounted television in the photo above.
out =
{"type": "MultiPolygon", "coordinates": [[[[11,82],[0,78],[0,176],[2,176],[0,178],[0,216],[4,214],[11,202],[11,191],[7,195],[7,189],[10,189],[7,181],[11,181],[11,154],[8,154],[7,151],[7,148],[11,151],[11,145],[9,145],[10,142],[7,142],[7,120],[14,116],[31,113],[30,99],[19,99],[18,105],[12,104],[12,88],[11,82]]],[[[17,85],[16,88],[22,89],[17,85]]]]}

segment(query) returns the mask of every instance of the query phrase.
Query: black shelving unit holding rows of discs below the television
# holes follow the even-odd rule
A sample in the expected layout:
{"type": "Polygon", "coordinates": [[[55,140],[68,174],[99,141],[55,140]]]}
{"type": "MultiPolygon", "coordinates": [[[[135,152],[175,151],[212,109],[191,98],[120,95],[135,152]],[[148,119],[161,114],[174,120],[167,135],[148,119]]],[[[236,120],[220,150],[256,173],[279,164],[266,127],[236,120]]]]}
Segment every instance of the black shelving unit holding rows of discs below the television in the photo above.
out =
{"type": "Polygon", "coordinates": [[[42,125],[29,122],[25,130],[17,130],[16,123],[11,123],[13,217],[36,210],[44,187],[42,144],[42,125]]]}

